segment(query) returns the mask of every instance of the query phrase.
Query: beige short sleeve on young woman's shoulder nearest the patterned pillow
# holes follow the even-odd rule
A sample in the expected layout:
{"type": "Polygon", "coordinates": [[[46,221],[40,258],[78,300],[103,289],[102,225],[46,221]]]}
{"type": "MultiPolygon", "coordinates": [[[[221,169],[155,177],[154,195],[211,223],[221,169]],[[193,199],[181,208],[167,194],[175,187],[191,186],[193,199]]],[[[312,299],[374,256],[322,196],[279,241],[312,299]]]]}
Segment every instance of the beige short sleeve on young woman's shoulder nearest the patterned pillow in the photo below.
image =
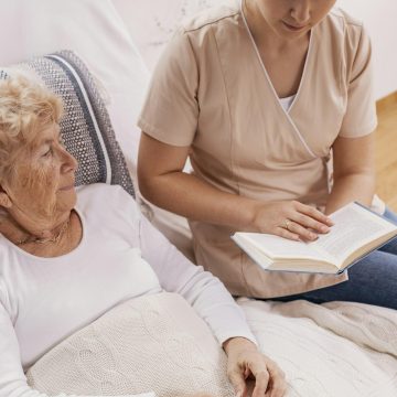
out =
{"type": "Polygon", "coordinates": [[[139,128],[164,143],[190,146],[196,132],[198,72],[187,33],[179,30],[152,76],[139,128]]]}

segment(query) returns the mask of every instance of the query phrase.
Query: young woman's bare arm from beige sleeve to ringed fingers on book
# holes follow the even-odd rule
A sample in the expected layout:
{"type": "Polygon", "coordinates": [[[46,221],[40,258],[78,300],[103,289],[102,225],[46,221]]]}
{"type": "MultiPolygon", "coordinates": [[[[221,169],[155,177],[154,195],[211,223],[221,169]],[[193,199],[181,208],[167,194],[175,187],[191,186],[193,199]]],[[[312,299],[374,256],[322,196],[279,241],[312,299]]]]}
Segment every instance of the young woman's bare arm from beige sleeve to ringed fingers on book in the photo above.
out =
{"type": "Polygon", "coordinates": [[[240,232],[276,234],[285,238],[313,239],[310,229],[323,229],[329,219],[315,208],[296,201],[264,202],[225,192],[198,178],[183,173],[190,147],[162,143],[142,133],[139,146],[138,181],[143,196],[192,221],[228,226],[240,232]],[[293,230],[283,225],[293,222],[293,230]]]}

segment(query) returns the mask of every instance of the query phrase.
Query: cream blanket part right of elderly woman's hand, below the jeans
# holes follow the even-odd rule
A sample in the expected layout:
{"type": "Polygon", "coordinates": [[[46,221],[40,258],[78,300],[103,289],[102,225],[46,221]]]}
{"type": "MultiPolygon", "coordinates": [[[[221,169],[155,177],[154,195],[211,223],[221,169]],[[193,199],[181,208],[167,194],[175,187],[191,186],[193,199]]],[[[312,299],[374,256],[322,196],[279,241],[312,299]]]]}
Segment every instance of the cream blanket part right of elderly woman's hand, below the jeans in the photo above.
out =
{"type": "Polygon", "coordinates": [[[397,312],[367,304],[242,298],[261,350],[286,372],[288,397],[397,396],[397,312]]]}

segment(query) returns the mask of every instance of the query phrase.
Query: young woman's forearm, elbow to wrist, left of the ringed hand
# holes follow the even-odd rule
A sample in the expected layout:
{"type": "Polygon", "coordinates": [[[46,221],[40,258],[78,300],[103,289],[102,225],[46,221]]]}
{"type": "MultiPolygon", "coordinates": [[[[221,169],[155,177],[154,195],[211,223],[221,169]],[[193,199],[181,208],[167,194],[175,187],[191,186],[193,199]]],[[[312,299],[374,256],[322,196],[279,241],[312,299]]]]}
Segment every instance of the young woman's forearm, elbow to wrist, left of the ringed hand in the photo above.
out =
{"type": "Polygon", "coordinates": [[[196,176],[170,172],[141,183],[140,191],[151,203],[189,219],[248,230],[256,201],[213,187],[196,176]]]}

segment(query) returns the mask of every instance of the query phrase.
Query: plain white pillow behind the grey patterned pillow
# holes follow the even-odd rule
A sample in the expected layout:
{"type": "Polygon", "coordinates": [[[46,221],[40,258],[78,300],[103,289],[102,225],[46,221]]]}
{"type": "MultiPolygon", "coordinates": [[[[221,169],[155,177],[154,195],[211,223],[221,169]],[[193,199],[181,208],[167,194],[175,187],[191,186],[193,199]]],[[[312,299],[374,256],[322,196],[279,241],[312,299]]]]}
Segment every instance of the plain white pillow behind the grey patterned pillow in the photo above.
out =
{"type": "Polygon", "coordinates": [[[117,140],[135,171],[136,120],[149,73],[111,0],[0,0],[0,66],[63,49],[76,52],[107,93],[117,140]]]}

